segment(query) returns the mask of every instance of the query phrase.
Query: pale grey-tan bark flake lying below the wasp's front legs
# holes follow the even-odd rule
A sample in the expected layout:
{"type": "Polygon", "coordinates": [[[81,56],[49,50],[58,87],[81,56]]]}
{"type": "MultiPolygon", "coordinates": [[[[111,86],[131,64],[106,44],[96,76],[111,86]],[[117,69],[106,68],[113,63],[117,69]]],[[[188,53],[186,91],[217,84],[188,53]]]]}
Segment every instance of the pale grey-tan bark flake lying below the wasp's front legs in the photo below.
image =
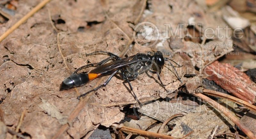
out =
{"type": "MultiPolygon", "coordinates": [[[[167,101],[154,101],[143,105],[138,111],[148,117],[154,118],[158,121],[164,122],[174,114],[190,113],[198,106],[188,106],[181,103],[172,103],[167,101]]],[[[167,125],[173,125],[175,121],[179,120],[180,116],[170,120],[167,125]]]]}

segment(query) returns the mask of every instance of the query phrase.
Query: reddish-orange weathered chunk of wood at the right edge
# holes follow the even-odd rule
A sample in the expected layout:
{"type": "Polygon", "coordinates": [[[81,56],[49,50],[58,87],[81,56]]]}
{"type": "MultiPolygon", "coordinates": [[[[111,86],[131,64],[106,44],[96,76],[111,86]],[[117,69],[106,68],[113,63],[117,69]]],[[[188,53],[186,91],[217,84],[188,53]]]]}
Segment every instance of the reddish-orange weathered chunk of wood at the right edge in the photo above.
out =
{"type": "Polygon", "coordinates": [[[251,104],[255,103],[256,84],[236,67],[215,61],[205,67],[204,73],[208,75],[208,80],[213,80],[237,98],[251,104]]]}

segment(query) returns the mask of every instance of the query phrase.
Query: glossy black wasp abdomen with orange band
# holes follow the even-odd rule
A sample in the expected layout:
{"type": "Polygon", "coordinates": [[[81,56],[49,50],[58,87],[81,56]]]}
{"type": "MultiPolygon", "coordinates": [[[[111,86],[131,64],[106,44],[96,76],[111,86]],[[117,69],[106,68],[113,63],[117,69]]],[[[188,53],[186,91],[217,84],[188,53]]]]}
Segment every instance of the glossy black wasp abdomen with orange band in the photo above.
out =
{"type": "Polygon", "coordinates": [[[91,80],[95,79],[98,77],[98,74],[95,73],[79,73],[75,74],[73,76],[70,76],[66,78],[61,84],[60,84],[60,91],[61,90],[67,90],[70,88],[82,86],[84,84],[87,84],[91,80]]]}

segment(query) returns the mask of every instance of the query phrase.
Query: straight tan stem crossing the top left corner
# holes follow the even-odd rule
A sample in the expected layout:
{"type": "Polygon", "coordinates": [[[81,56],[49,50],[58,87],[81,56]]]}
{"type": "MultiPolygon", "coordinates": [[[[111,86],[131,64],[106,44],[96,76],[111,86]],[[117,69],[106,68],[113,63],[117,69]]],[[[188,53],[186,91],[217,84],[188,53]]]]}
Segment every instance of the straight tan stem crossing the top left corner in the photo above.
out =
{"type": "Polygon", "coordinates": [[[29,17],[31,17],[33,14],[35,14],[38,10],[40,10],[42,7],[44,7],[45,4],[50,2],[51,0],[43,0],[41,3],[36,5],[35,8],[33,8],[31,11],[29,11],[23,18],[21,18],[17,23],[15,23],[12,27],[10,27],[1,37],[0,42],[4,40],[9,34],[11,34],[16,28],[18,28],[22,23],[27,21],[29,17]]]}

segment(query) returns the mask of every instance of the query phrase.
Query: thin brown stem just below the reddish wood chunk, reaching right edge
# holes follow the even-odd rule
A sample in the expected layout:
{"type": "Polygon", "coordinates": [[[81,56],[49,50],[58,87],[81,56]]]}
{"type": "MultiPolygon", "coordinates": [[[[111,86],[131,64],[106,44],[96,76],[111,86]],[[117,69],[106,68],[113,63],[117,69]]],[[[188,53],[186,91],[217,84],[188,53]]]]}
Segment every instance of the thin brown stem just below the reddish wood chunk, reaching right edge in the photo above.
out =
{"type": "Polygon", "coordinates": [[[208,89],[204,89],[204,94],[210,95],[210,96],[214,96],[214,97],[219,97],[219,98],[224,98],[224,99],[228,99],[236,104],[239,104],[241,106],[244,106],[246,108],[248,108],[249,110],[252,110],[254,112],[256,112],[256,106],[242,100],[242,99],[238,99],[236,97],[233,97],[231,95],[227,95],[225,93],[221,93],[218,91],[214,91],[214,90],[208,90],[208,89]]]}

